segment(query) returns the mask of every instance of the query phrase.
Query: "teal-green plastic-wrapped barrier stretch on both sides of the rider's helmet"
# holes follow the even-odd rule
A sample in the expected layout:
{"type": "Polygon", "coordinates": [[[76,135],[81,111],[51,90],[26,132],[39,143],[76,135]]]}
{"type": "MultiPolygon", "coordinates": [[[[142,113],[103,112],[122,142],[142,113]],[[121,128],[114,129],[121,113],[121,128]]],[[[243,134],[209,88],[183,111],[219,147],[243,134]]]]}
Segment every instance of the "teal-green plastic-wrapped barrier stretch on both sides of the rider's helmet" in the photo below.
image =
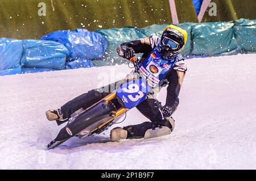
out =
{"type": "MultiPolygon", "coordinates": [[[[115,53],[122,42],[137,40],[155,35],[161,36],[167,24],[153,24],[141,29],[134,27],[97,30],[108,40],[109,47],[96,66],[126,63],[115,53]]],[[[256,20],[240,19],[231,22],[181,23],[177,24],[188,32],[188,40],[181,55],[186,56],[222,56],[237,53],[256,52],[256,20]]]]}

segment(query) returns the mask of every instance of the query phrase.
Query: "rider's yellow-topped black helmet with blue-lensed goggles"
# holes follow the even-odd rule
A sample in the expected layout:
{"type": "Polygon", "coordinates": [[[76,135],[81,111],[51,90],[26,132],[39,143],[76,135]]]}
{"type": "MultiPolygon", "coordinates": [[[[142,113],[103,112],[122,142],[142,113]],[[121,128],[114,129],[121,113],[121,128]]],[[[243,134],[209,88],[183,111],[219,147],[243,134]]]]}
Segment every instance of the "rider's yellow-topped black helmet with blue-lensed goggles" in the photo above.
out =
{"type": "Polygon", "coordinates": [[[188,33],[180,27],[173,24],[164,28],[160,48],[164,59],[170,59],[185,47],[187,42],[188,33]]]}

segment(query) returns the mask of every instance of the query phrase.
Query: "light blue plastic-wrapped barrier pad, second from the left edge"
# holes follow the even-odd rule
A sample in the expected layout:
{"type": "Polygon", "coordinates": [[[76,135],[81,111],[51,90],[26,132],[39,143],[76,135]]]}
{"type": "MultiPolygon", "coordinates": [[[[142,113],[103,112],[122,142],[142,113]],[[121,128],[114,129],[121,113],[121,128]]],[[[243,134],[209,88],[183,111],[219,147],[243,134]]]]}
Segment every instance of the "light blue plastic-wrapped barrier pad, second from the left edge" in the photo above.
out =
{"type": "Polygon", "coordinates": [[[63,44],[46,40],[23,40],[23,45],[22,65],[24,67],[57,70],[65,68],[69,51],[63,44]]]}

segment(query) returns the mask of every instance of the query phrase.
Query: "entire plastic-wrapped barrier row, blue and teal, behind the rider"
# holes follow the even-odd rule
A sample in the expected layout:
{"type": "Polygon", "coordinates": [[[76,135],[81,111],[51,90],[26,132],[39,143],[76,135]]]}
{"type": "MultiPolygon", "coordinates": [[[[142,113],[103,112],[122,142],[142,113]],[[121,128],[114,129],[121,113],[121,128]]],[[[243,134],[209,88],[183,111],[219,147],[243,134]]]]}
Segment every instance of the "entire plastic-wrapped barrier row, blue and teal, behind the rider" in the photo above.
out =
{"type": "MultiPolygon", "coordinates": [[[[127,61],[115,53],[118,44],[151,35],[161,36],[167,25],[93,32],[82,28],[60,30],[42,36],[41,40],[2,38],[0,75],[124,64],[127,61]]],[[[184,58],[256,53],[256,19],[177,26],[188,32],[187,44],[181,52],[184,58]]]]}

